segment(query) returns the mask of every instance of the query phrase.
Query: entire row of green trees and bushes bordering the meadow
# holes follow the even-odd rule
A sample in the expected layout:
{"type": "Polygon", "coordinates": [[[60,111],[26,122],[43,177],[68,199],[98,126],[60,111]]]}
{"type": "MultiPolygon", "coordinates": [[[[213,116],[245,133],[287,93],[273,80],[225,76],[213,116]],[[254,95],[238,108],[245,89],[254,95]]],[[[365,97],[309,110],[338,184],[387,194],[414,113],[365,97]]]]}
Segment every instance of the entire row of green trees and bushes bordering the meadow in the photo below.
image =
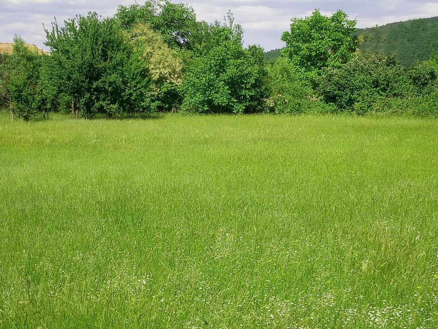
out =
{"type": "Polygon", "coordinates": [[[406,70],[395,56],[357,52],[343,11],[294,18],[272,63],[245,47],[229,12],[197,21],[170,1],[90,12],[45,28],[50,55],[18,36],[0,54],[0,107],[25,119],[180,113],[406,113],[438,116],[438,56],[406,70]]]}

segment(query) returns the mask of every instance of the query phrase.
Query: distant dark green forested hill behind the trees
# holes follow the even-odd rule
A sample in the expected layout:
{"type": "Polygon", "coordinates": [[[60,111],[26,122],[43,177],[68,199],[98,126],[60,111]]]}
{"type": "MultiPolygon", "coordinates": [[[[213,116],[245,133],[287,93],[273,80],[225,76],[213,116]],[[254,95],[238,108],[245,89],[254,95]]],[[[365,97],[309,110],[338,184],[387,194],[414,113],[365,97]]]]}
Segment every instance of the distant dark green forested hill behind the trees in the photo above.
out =
{"type": "MultiPolygon", "coordinates": [[[[359,29],[358,33],[364,37],[360,51],[396,54],[405,67],[429,59],[432,51],[438,50],[438,17],[359,29]]],[[[265,61],[274,61],[279,55],[279,49],[271,50],[265,53],[265,61]]]]}

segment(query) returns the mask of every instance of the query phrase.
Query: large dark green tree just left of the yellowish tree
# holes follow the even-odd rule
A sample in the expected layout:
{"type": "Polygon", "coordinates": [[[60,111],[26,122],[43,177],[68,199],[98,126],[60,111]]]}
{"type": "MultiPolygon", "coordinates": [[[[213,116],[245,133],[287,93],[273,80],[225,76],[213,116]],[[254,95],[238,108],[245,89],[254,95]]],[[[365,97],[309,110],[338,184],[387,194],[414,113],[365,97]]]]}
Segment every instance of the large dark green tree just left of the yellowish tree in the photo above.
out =
{"type": "Polygon", "coordinates": [[[50,81],[72,97],[82,115],[117,117],[154,108],[148,63],[126,41],[117,20],[89,13],[65,21],[62,28],[55,22],[46,34],[50,81]]]}

